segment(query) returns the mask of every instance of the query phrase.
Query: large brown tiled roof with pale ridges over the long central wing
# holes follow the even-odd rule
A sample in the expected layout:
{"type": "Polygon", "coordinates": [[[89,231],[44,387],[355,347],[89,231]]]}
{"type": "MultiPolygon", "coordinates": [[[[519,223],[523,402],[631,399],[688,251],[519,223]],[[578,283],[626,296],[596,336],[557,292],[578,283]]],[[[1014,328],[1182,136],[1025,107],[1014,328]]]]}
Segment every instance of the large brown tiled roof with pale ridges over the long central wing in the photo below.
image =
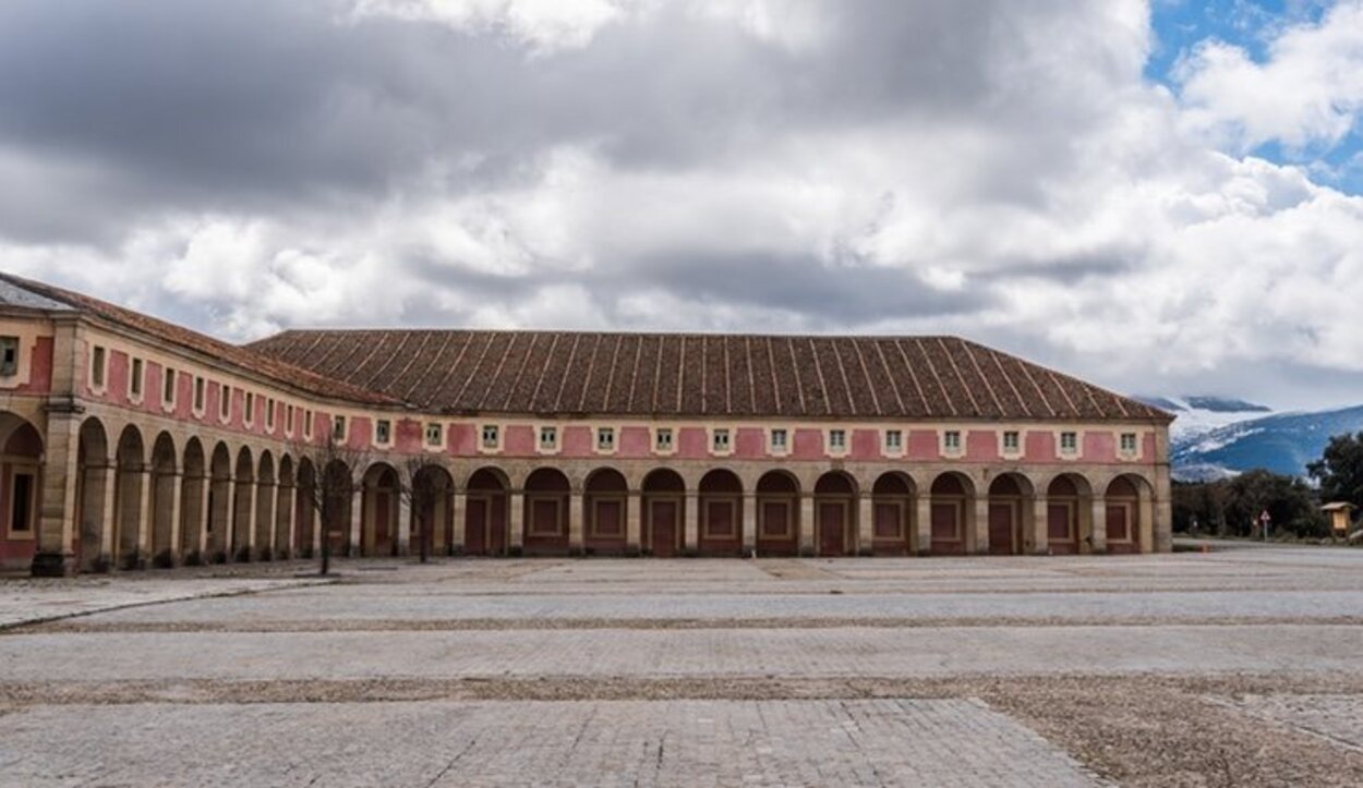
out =
{"type": "Polygon", "coordinates": [[[447,413],[1172,420],[955,337],[298,330],[249,348],[447,413]]]}

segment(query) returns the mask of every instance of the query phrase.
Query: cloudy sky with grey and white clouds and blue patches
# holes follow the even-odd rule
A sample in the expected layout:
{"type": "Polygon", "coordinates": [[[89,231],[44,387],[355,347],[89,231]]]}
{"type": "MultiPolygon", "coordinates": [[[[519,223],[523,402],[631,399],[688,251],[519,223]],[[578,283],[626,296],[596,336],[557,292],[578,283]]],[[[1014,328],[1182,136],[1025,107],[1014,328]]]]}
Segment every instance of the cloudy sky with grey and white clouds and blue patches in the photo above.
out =
{"type": "Polygon", "coordinates": [[[1363,402],[1363,0],[8,0],[0,269],[1363,402]]]}

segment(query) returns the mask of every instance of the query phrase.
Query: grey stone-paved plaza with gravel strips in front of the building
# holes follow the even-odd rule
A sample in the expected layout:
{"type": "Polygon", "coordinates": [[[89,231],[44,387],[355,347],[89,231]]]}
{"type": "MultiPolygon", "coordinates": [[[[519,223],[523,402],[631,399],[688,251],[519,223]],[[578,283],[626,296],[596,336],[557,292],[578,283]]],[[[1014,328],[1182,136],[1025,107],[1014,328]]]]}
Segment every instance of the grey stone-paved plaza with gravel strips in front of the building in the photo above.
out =
{"type": "Polygon", "coordinates": [[[1363,551],[296,569],[0,582],[0,785],[1363,784],[1363,551]]]}

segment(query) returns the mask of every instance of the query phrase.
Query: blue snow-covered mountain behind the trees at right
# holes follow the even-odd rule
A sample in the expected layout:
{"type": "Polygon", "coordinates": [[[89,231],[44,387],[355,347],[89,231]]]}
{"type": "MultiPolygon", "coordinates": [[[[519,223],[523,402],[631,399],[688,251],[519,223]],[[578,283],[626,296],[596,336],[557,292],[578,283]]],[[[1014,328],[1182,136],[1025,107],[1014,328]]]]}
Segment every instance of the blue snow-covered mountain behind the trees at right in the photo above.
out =
{"type": "Polygon", "coordinates": [[[1174,476],[1186,481],[1253,468],[1303,476],[1332,436],[1363,431],[1363,405],[1292,413],[1216,397],[1141,399],[1178,416],[1169,428],[1169,459],[1174,476]]]}

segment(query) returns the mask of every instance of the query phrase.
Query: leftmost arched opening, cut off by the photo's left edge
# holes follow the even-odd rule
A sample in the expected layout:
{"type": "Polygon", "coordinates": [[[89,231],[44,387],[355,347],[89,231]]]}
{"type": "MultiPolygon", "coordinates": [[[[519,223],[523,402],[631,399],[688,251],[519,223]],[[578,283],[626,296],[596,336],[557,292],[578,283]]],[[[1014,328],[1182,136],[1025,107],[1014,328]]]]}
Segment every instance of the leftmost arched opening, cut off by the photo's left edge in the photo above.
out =
{"type": "MultiPolygon", "coordinates": [[[[0,412],[0,566],[33,567],[42,511],[42,436],[19,416],[0,412]]],[[[49,547],[49,549],[57,545],[49,547]]],[[[65,545],[60,551],[64,552],[65,545]]]]}

